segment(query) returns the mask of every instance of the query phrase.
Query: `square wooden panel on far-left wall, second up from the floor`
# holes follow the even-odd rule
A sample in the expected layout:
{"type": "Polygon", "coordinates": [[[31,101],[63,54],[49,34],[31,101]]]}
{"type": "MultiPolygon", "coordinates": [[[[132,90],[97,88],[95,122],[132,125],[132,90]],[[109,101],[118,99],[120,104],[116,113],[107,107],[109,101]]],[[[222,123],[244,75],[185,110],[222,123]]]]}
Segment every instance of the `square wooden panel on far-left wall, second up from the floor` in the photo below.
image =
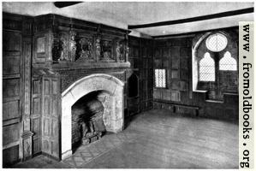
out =
{"type": "Polygon", "coordinates": [[[20,124],[13,124],[3,127],[3,145],[20,140],[20,124]]]}

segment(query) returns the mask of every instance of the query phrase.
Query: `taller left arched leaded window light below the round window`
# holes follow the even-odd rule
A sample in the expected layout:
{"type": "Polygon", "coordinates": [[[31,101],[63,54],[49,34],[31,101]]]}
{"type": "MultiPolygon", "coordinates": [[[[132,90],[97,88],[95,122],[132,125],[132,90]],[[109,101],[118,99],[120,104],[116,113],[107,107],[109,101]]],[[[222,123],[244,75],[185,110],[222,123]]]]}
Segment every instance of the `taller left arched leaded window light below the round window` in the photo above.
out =
{"type": "Polygon", "coordinates": [[[215,62],[209,52],[199,62],[199,80],[215,81],[215,62]]]}

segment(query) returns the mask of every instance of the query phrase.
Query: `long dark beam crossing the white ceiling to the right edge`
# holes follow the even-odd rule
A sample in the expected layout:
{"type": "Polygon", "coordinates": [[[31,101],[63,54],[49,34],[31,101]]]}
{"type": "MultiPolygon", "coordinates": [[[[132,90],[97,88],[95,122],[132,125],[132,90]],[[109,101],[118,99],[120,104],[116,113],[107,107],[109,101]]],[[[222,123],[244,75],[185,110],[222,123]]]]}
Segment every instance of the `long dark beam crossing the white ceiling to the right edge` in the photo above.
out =
{"type": "Polygon", "coordinates": [[[254,8],[252,7],[247,9],[238,9],[238,10],[227,11],[223,13],[217,13],[213,15],[196,16],[196,17],[180,19],[176,21],[161,21],[161,22],[154,22],[154,23],[142,24],[142,25],[128,25],[128,29],[146,28],[146,27],[163,27],[163,26],[170,26],[170,25],[182,24],[182,23],[188,23],[188,22],[194,22],[194,21],[205,21],[205,20],[217,19],[217,18],[233,16],[233,15],[243,15],[243,14],[253,13],[253,12],[254,12],[254,8]]]}

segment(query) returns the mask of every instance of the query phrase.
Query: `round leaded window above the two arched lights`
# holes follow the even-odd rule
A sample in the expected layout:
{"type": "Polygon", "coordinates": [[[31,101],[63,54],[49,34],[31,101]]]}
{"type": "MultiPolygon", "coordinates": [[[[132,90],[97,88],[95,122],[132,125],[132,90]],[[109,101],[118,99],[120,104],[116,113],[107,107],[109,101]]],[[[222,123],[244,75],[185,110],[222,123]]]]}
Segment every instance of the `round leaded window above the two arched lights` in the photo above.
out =
{"type": "Polygon", "coordinates": [[[226,48],[228,39],[221,33],[215,33],[209,36],[205,43],[208,50],[218,52],[226,48]]]}

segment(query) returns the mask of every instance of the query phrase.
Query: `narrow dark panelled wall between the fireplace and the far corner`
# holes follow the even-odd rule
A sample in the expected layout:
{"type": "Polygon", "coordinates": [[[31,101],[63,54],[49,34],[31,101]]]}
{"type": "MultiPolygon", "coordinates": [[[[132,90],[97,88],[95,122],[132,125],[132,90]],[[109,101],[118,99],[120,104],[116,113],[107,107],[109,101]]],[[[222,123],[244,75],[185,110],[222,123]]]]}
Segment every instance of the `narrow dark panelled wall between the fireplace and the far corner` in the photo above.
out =
{"type": "Polygon", "coordinates": [[[134,115],[152,109],[152,39],[129,37],[129,59],[132,73],[139,82],[138,96],[128,97],[128,114],[134,115]]]}

